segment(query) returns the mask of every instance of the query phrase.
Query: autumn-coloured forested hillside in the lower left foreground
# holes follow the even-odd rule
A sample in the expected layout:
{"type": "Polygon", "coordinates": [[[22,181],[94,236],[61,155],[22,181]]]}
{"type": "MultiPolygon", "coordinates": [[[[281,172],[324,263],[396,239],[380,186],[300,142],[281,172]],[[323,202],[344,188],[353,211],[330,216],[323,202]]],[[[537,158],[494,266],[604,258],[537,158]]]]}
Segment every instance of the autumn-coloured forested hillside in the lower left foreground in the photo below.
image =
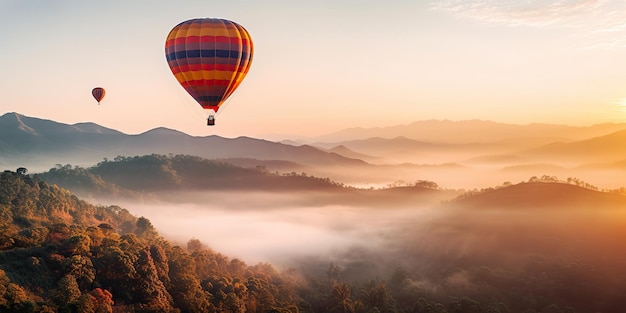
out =
{"type": "Polygon", "coordinates": [[[294,289],[198,240],[186,249],[146,218],[0,173],[0,312],[289,312],[294,289]]]}

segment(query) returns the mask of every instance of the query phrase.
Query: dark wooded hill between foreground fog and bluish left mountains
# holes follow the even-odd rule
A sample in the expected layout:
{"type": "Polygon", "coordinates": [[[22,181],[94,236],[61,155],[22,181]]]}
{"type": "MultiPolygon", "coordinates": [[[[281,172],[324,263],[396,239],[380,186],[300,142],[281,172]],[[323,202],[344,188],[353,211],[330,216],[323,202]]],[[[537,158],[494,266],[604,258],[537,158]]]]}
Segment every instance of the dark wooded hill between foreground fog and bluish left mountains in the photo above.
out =
{"type": "Polygon", "coordinates": [[[264,167],[243,168],[197,156],[151,154],[116,157],[90,168],[57,166],[37,174],[70,189],[100,195],[128,195],[160,191],[207,190],[330,190],[342,188],[328,178],[306,173],[278,174],[264,167]]]}

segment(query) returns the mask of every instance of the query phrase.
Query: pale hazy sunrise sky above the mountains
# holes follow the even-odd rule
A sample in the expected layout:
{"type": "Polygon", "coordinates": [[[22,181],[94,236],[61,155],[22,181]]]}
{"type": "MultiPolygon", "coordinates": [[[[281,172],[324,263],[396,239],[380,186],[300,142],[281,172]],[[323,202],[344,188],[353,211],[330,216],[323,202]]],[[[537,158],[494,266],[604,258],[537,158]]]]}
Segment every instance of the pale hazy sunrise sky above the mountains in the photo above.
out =
{"type": "Polygon", "coordinates": [[[622,0],[0,0],[0,29],[0,113],[129,134],[626,121],[622,0]],[[164,55],[170,29],[197,17],[236,21],[255,44],[214,127],[164,55]]]}

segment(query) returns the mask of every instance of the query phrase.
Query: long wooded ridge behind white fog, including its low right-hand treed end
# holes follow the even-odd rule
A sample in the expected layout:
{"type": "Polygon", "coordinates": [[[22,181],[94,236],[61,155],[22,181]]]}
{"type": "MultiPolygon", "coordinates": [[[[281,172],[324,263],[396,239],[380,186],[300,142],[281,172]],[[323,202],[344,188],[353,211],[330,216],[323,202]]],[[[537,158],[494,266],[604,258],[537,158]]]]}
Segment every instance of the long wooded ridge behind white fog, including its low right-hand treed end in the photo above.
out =
{"type": "Polygon", "coordinates": [[[384,189],[360,189],[306,173],[272,173],[262,165],[241,167],[189,155],[118,156],[89,168],[59,164],[36,177],[90,199],[159,199],[173,203],[199,201],[190,200],[197,194],[232,191],[299,195],[296,201],[302,205],[389,206],[435,203],[459,193],[424,180],[384,189]],[[315,196],[302,196],[305,194],[315,196]]]}

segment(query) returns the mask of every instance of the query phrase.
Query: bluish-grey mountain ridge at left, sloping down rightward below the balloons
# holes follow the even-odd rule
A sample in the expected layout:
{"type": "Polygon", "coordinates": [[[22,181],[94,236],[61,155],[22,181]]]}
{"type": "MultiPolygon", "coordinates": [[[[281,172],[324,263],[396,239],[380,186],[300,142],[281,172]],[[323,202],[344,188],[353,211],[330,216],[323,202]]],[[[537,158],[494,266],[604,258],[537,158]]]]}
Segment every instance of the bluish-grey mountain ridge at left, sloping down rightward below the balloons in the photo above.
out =
{"type": "Polygon", "coordinates": [[[40,170],[55,164],[92,165],[105,158],[152,153],[285,160],[315,166],[365,164],[308,145],[292,146],[249,137],[194,137],[167,128],[127,135],[94,123],[68,125],[18,113],[0,117],[0,152],[5,166],[43,166],[40,170]]]}

